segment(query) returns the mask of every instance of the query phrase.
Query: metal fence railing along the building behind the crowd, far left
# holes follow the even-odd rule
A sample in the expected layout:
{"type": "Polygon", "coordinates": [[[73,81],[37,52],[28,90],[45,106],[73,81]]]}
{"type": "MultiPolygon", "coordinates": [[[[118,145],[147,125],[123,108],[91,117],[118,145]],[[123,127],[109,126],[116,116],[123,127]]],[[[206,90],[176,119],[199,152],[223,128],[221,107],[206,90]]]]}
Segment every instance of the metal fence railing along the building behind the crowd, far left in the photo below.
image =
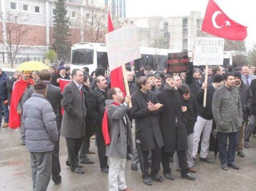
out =
{"type": "MultiPolygon", "coordinates": [[[[44,54],[17,54],[14,59],[14,64],[21,64],[27,61],[39,61],[46,62],[46,56],[44,54]]],[[[65,64],[70,64],[70,56],[58,56],[53,63],[58,61],[64,61],[65,64]]],[[[0,52],[0,63],[11,63],[10,53],[0,52]]]]}

